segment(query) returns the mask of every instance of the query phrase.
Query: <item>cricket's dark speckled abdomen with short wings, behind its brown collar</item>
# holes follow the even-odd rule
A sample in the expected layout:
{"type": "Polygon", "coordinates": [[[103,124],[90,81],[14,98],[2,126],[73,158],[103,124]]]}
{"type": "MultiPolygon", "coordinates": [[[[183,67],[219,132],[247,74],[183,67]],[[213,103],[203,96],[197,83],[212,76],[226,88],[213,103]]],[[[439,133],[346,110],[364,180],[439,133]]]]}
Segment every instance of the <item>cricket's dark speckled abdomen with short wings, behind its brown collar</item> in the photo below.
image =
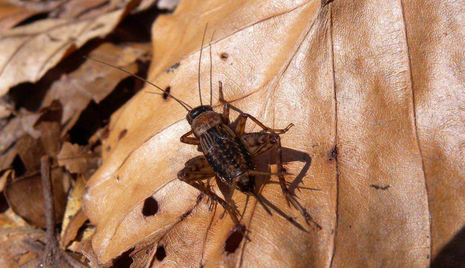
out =
{"type": "Polygon", "coordinates": [[[231,185],[237,178],[239,190],[253,190],[253,176],[248,174],[254,170],[252,158],[230,128],[224,124],[216,125],[206,130],[199,140],[208,163],[220,179],[231,185]]]}

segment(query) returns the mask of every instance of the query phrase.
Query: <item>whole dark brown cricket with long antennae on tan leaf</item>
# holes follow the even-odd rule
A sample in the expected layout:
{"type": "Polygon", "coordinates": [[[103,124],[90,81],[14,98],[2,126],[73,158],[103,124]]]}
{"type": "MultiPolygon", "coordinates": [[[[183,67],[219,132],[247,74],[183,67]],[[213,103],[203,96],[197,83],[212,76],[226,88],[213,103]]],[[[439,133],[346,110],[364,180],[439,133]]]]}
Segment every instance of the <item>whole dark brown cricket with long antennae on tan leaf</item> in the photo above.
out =
{"type": "MultiPolygon", "coordinates": [[[[289,131],[293,124],[290,123],[289,125],[287,125],[286,128],[282,129],[269,128],[266,127],[263,123],[261,123],[252,115],[243,113],[239,116],[237,126],[235,127],[235,130],[233,130],[228,126],[230,104],[224,99],[223,86],[221,81],[219,81],[219,102],[223,104],[223,112],[217,113],[213,110],[212,105],[204,105],[202,103],[202,97],[200,93],[200,61],[202,57],[206,29],[207,26],[205,27],[205,31],[203,34],[199,56],[198,76],[200,105],[191,109],[189,109],[190,105],[187,105],[189,106],[188,108],[185,104],[183,104],[185,102],[181,102],[179,99],[172,96],[166,90],[160,88],[154,83],[147,81],[142,77],[139,77],[126,70],[122,70],[111,64],[107,64],[86,56],[84,57],[93,61],[100,62],[102,64],[109,65],[113,68],[124,71],[133,77],[141,79],[146,83],[149,83],[156,89],[161,90],[165,96],[173,98],[173,100],[178,102],[183,108],[186,109],[186,120],[191,126],[191,130],[189,130],[186,134],[182,135],[180,137],[180,141],[182,143],[199,146],[203,155],[188,160],[184,168],[178,172],[177,177],[179,180],[193,186],[197,190],[201,191],[202,194],[205,194],[208,198],[220,204],[224,209],[224,212],[221,215],[221,217],[223,217],[224,213],[227,211],[231,219],[233,220],[233,223],[235,224],[235,228],[239,230],[240,234],[244,236],[244,238],[247,241],[251,240],[245,232],[246,228],[240,224],[237,212],[234,211],[233,207],[229,204],[230,200],[226,201],[225,199],[219,197],[216,193],[210,190],[210,188],[207,187],[202,181],[211,179],[216,176],[226,185],[231,187],[231,191],[237,189],[255,198],[257,202],[271,216],[271,211],[266,207],[265,203],[255,192],[255,176],[276,175],[279,179],[279,185],[284,197],[286,198],[287,204],[292,204],[292,206],[295,209],[300,211],[300,213],[305,219],[306,224],[308,224],[309,226],[312,226],[313,224],[318,229],[321,229],[321,226],[313,220],[310,214],[306,211],[306,208],[303,207],[299,203],[299,201],[297,201],[295,196],[288,190],[286,186],[286,180],[284,179],[284,176],[291,174],[287,173],[286,169],[283,167],[282,146],[279,134],[284,134],[287,131],[289,131]],[[255,124],[262,128],[262,131],[245,133],[247,119],[252,120],[255,124]],[[270,173],[256,171],[252,158],[266,153],[272,150],[272,148],[274,147],[276,147],[277,152],[277,172],[270,173]]],[[[212,77],[210,74],[210,86],[212,87],[211,80],[212,77]]],[[[292,221],[292,218],[288,218],[287,220],[292,221]]]]}

